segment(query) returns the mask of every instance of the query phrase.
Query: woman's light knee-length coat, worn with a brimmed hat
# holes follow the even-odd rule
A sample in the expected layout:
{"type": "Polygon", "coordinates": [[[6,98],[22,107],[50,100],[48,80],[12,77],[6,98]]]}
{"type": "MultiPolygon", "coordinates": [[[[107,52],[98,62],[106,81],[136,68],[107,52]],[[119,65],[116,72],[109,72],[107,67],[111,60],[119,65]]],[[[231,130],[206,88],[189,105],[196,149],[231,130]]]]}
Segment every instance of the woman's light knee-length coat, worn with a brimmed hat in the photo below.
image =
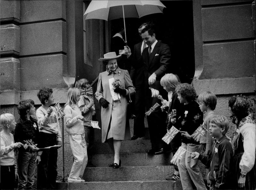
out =
{"type": "Polygon", "coordinates": [[[113,101],[111,96],[108,80],[113,77],[120,79],[122,83],[120,88],[126,89],[126,95],[128,95],[128,91],[130,94],[135,93],[135,88],[127,70],[117,68],[114,74],[109,74],[108,71],[100,73],[95,97],[98,101],[104,98],[109,102],[107,108],[101,107],[102,142],[106,142],[109,138],[115,140],[131,138],[129,127],[125,127],[127,113],[126,96],[120,95],[120,101],[113,101]]]}

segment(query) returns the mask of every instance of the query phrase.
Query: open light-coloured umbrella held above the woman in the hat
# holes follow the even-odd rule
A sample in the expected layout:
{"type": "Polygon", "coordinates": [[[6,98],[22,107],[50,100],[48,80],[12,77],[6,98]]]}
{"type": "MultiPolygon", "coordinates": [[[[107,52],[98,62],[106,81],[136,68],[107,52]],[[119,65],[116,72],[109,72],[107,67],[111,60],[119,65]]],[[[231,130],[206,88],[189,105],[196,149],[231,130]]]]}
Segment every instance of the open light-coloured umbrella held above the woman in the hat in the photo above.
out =
{"type": "MultiPolygon", "coordinates": [[[[86,9],[85,19],[114,20],[119,18],[141,18],[148,14],[163,13],[164,4],[160,1],[97,1],[92,0],[86,9]]],[[[124,20],[124,35],[126,42],[126,29],[124,20]]]]}

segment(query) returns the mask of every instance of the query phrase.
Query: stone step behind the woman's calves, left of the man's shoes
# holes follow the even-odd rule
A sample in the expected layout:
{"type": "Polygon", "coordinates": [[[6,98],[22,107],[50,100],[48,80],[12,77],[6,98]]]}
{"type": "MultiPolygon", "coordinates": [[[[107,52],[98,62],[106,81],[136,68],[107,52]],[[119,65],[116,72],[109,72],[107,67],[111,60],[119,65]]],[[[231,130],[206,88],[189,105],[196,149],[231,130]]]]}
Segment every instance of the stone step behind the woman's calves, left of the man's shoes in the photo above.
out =
{"type": "MultiPolygon", "coordinates": [[[[145,153],[151,149],[149,139],[124,140],[121,142],[120,153],[145,153]]],[[[92,154],[112,154],[108,143],[94,142],[92,154]]]]}

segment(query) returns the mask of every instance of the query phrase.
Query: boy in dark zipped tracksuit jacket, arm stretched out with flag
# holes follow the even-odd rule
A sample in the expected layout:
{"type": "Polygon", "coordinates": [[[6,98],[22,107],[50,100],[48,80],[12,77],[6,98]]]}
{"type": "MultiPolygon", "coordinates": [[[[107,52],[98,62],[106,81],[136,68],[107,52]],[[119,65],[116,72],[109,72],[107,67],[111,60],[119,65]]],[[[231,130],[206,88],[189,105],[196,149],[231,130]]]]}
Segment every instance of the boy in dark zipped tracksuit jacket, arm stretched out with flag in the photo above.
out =
{"type": "Polygon", "coordinates": [[[225,116],[215,115],[210,120],[209,132],[215,138],[210,155],[193,152],[191,158],[201,160],[210,167],[208,179],[213,189],[233,189],[234,175],[232,172],[233,149],[226,137],[229,122],[225,116]]]}

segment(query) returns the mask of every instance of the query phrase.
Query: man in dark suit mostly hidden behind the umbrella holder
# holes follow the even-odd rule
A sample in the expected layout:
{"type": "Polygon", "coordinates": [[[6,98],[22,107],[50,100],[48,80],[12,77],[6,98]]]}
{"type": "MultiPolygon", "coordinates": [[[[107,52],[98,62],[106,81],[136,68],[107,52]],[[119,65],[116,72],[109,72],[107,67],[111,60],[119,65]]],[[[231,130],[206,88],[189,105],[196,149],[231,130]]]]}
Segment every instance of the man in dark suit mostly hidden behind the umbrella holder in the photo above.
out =
{"type": "MultiPolygon", "coordinates": [[[[145,28],[148,23],[142,23],[138,28],[139,35],[141,37],[141,31],[145,28]]],[[[145,135],[145,124],[144,124],[144,115],[145,115],[145,91],[144,91],[144,72],[140,63],[142,62],[142,51],[148,45],[141,41],[138,44],[134,45],[133,54],[130,57],[132,59],[132,68],[130,76],[132,83],[135,86],[136,93],[134,97],[134,124],[133,124],[133,137],[131,140],[141,138],[145,135]]]]}

